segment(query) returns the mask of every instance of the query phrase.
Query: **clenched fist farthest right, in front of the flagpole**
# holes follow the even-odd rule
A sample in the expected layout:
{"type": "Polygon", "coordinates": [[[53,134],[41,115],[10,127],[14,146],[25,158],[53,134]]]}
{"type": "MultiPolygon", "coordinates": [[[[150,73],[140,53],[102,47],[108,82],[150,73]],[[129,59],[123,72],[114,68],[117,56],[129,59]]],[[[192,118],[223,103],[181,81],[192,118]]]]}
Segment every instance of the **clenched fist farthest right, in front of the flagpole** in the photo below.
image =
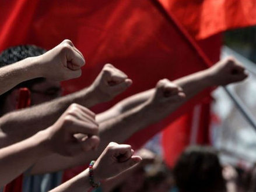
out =
{"type": "Polygon", "coordinates": [[[216,86],[226,86],[230,83],[243,81],[248,77],[245,67],[234,58],[223,59],[208,70],[211,74],[212,83],[216,86]]]}

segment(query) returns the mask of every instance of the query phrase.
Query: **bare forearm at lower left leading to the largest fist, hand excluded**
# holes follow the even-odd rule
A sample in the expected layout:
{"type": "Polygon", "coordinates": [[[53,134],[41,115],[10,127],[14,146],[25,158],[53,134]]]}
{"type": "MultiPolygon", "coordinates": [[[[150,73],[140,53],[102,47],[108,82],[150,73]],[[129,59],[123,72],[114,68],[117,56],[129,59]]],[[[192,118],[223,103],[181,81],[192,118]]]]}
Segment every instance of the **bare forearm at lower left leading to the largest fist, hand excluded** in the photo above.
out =
{"type": "Polygon", "coordinates": [[[47,154],[41,133],[0,150],[0,186],[4,186],[47,154]]]}

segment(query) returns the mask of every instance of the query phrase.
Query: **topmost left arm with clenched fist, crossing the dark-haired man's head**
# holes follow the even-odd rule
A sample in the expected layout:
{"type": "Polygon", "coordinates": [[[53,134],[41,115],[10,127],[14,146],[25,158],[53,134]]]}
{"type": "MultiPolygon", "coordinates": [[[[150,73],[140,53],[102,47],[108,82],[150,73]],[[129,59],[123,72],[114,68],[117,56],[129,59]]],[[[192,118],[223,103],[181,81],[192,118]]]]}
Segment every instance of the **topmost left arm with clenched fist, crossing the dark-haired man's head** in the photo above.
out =
{"type": "Polygon", "coordinates": [[[0,68],[0,95],[22,81],[45,77],[51,80],[69,80],[80,77],[85,58],[70,40],[64,40],[43,55],[26,58],[0,68]]]}

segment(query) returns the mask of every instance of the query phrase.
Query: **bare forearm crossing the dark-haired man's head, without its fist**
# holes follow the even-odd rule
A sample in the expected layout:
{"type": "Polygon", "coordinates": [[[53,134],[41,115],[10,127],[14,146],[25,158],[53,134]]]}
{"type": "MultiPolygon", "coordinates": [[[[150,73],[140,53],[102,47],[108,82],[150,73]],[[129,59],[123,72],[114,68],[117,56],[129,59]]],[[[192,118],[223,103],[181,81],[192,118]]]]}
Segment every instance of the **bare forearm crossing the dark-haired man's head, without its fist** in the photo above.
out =
{"type": "Polygon", "coordinates": [[[41,77],[36,59],[27,58],[0,68],[0,95],[23,81],[41,77]]]}

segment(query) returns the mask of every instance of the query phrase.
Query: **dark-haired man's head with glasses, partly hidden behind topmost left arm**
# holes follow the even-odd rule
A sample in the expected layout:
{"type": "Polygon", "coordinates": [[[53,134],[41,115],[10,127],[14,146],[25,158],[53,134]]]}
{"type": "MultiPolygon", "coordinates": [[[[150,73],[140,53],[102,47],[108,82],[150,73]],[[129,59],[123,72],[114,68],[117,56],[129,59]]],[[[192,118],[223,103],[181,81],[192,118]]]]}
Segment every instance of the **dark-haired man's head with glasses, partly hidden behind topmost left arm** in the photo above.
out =
{"type": "MultiPolygon", "coordinates": [[[[19,45],[5,49],[0,54],[0,67],[10,65],[23,59],[42,55],[45,49],[35,45],[19,45]]],[[[0,114],[13,111],[16,108],[17,98],[19,97],[19,88],[26,87],[31,92],[31,105],[50,101],[60,95],[61,87],[59,82],[37,78],[18,84],[5,94],[0,95],[0,114]]]]}

